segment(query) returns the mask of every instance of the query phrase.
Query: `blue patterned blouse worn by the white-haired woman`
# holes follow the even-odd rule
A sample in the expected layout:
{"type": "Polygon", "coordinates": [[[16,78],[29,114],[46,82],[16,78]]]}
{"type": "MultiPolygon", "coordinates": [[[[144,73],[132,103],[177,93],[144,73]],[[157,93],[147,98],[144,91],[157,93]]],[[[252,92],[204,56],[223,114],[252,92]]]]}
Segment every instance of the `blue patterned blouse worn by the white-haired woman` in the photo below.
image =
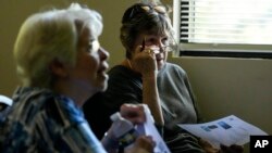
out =
{"type": "Polygon", "coordinates": [[[104,153],[81,107],[47,89],[18,88],[2,125],[7,153],[104,153]]]}

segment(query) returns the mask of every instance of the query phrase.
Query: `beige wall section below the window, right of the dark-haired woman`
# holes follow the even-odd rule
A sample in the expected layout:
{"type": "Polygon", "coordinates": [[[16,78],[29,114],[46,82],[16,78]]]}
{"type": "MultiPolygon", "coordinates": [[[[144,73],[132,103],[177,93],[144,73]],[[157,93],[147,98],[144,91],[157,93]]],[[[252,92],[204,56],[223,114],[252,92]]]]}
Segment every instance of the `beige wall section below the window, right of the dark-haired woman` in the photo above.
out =
{"type": "Polygon", "coordinates": [[[272,133],[272,61],[171,59],[188,73],[207,119],[236,115],[272,133]]]}

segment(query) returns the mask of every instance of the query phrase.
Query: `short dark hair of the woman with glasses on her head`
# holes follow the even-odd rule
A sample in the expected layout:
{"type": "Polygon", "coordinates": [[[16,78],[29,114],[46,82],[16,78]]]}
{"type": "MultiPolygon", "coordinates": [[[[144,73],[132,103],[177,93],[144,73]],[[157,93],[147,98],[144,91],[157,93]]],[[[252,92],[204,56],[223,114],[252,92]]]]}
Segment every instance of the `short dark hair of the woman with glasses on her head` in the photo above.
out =
{"type": "Polygon", "coordinates": [[[168,35],[173,38],[173,27],[166,7],[154,3],[135,3],[129,7],[123,15],[120,33],[127,59],[132,58],[131,49],[139,34],[168,35]]]}

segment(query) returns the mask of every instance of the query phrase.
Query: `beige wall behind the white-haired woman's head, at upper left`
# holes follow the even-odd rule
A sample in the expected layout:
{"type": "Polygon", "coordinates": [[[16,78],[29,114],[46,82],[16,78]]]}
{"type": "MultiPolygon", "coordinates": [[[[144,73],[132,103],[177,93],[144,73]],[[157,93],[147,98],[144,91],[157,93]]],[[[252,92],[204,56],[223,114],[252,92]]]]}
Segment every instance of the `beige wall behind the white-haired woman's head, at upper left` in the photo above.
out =
{"type": "MultiPolygon", "coordinates": [[[[12,59],[13,43],[23,21],[34,12],[49,8],[63,8],[70,0],[1,0],[0,1],[0,93],[11,95],[18,85],[12,59]]],[[[76,0],[75,0],[76,1],[76,0]]],[[[123,58],[119,41],[119,27],[124,9],[134,0],[77,0],[99,10],[104,20],[101,44],[110,51],[110,65],[123,58]]]]}

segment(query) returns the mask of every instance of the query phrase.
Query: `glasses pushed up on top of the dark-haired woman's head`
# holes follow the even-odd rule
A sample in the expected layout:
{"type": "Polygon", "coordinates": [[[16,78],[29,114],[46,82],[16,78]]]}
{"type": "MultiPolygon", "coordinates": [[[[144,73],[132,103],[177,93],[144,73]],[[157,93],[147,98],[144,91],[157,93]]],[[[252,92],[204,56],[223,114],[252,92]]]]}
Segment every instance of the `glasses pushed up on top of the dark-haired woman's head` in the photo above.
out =
{"type": "Polygon", "coordinates": [[[152,13],[153,11],[160,14],[165,14],[166,8],[163,5],[144,5],[144,4],[137,4],[134,8],[132,8],[132,11],[129,13],[129,18],[133,17],[137,13],[141,13],[143,11],[152,13]]]}

